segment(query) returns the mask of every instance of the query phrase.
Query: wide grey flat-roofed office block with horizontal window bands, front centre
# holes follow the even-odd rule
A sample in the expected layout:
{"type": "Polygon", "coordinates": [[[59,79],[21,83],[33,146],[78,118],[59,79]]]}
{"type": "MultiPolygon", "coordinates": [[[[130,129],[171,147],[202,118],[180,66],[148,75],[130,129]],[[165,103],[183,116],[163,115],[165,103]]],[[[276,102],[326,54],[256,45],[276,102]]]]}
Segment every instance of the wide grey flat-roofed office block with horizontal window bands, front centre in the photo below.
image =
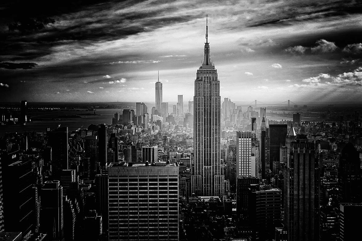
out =
{"type": "Polygon", "coordinates": [[[109,241],[178,240],[177,164],[111,163],[108,175],[109,241]]]}

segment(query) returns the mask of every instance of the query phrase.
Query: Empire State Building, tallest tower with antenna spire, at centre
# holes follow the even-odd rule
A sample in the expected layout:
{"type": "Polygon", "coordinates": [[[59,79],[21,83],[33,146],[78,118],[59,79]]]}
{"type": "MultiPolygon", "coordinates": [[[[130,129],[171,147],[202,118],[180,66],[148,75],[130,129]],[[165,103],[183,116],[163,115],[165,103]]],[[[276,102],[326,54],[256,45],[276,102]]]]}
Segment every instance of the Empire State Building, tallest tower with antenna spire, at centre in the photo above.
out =
{"type": "Polygon", "coordinates": [[[191,191],[195,195],[224,194],[220,153],[220,82],[210,59],[206,17],[204,59],[196,73],[194,95],[194,166],[191,191]]]}

